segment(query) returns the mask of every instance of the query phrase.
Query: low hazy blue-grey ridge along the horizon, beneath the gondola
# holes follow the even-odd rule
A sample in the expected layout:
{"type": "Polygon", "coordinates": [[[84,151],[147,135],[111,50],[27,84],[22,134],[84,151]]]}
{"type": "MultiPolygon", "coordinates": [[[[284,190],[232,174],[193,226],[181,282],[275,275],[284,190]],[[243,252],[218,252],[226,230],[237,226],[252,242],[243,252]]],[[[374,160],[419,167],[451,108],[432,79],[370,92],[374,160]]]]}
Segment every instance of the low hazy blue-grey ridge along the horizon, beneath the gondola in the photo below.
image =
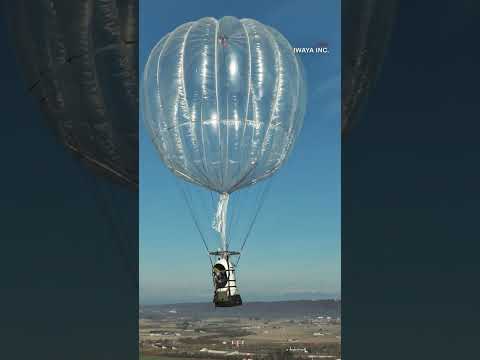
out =
{"type": "Polygon", "coordinates": [[[215,308],[212,303],[184,303],[171,305],[140,306],[140,318],[260,318],[304,319],[318,316],[338,317],[339,300],[294,300],[272,302],[249,302],[233,308],[215,308]]]}

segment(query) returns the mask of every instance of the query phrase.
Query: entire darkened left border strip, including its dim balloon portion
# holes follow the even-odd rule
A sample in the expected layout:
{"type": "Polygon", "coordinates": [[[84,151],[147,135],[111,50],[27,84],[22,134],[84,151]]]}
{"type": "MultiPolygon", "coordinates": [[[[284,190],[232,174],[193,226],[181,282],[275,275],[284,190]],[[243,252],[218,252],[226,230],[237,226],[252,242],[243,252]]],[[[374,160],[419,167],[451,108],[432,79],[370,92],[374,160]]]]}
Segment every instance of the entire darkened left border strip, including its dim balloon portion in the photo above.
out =
{"type": "Polygon", "coordinates": [[[136,1],[2,4],[1,359],[138,358],[137,26],[136,1]]]}

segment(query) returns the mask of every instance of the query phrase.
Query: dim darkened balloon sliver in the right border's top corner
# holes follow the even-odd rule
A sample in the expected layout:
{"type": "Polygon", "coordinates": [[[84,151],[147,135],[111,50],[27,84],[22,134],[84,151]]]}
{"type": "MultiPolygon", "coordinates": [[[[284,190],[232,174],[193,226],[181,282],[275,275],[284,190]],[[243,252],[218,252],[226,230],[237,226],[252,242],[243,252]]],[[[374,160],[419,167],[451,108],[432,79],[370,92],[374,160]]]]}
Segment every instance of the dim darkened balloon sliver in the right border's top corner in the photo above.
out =
{"type": "Polygon", "coordinates": [[[342,1],[342,135],[373,87],[396,8],[397,1],[342,1]]]}

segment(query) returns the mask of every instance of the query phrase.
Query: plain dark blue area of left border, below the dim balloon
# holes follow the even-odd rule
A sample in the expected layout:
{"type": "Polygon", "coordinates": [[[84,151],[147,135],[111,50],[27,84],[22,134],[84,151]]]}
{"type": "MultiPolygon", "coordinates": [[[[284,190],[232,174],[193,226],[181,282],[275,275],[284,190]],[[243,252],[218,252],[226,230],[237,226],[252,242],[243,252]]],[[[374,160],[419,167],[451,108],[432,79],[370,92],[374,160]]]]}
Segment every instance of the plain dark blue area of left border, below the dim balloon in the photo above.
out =
{"type": "Polygon", "coordinates": [[[138,358],[138,191],[97,176],[58,141],[1,5],[0,358],[138,358]],[[107,197],[121,227],[100,209],[107,197]]]}

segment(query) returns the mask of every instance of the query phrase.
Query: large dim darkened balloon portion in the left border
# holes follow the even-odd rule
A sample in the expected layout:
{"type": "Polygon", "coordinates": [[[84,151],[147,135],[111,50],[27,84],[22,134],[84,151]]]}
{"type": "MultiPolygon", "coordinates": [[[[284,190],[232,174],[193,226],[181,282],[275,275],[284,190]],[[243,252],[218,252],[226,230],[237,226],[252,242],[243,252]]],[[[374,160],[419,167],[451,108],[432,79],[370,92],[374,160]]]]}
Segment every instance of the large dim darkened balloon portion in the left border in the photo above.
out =
{"type": "Polygon", "coordinates": [[[138,1],[18,0],[9,25],[28,91],[95,174],[138,184],[138,1]]]}

